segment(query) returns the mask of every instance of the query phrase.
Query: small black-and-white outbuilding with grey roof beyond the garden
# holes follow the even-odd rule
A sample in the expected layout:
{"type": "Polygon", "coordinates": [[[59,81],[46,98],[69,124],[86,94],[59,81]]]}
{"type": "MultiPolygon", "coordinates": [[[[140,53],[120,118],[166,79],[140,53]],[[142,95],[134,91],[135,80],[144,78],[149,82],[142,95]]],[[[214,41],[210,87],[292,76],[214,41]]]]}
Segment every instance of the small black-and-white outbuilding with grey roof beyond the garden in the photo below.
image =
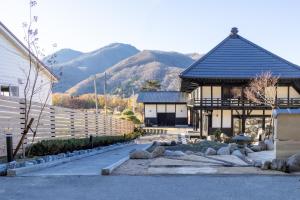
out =
{"type": "Polygon", "coordinates": [[[187,125],[185,93],[178,91],[141,92],[137,101],[144,104],[145,126],[187,125]]]}

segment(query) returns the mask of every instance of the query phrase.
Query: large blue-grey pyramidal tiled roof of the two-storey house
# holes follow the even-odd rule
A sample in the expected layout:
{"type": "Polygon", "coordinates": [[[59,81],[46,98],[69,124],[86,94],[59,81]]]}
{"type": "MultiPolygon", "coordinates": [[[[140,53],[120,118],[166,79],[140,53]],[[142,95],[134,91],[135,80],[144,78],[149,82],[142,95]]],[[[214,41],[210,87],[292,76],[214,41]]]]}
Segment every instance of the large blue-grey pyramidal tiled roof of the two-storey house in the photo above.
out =
{"type": "Polygon", "coordinates": [[[271,71],[280,78],[300,78],[299,66],[231,34],[180,74],[181,78],[252,78],[271,71]]]}

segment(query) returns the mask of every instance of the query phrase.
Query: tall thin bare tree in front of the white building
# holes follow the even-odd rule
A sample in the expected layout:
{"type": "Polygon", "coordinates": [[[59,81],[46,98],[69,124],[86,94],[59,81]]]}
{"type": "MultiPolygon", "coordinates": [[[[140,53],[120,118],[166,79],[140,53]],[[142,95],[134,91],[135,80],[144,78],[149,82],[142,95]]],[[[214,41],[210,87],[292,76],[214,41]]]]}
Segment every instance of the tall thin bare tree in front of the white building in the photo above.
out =
{"type": "MultiPolygon", "coordinates": [[[[40,49],[38,45],[38,29],[37,21],[38,17],[32,15],[32,9],[37,6],[37,1],[29,1],[29,21],[28,23],[23,23],[24,29],[24,40],[26,42],[27,53],[28,53],[28,65],[22,68],[25,75],[25,85],[23,88],[24,95],[24,129],[22,132],[22,137],[17,145],[14,152],[14,156],[18,153],[21,146],[24,145],[24,139],[29,131],[32,131],[32,143],[34,142],[38,127],[40,125],[40,120],[43,117],[43,112],[50,100],[52,93],[53,84],[55,78],[52,74],[49,74],[48,69],[43,66],[40,61],[40,57],[44,56],[43,50],[40,49]],[[49,79],[43,79],[43,76],[49,76],[49,79]],[[45,81],[46,80],[46,81],[45,81]],[[41,94],[43,94],[41,96],[41,94]],[[39,101],[38,113],[33,117],[32,107],[33,101],[39,101]],[[33,123],[34,121],[34,123],[33,123]]],[[[55,47],[56,45],[54,45],[55,47]]],[[[54,64],[55,54],[49,59],[50,65],[54,64]]],[[[36,109],[35,109],[36,110],[36,109]]],[[[24,146],[23,146],[24,147],[24,146]]],[[[23,156],[25,156],[25,151],[23,149],[23,156]]]]}

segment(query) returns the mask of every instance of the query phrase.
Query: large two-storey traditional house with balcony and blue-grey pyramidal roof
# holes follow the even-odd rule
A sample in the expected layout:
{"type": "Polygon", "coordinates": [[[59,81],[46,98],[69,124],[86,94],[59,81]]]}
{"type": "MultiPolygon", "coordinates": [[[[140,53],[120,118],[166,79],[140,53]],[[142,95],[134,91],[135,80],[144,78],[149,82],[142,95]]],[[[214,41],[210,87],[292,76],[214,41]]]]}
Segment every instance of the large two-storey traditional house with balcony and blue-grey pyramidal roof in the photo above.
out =
{"type": "Polygon", "coordinates": [[[299,66],[232,28],[228,37],[180,74],[181,92],[188,94],[189,121],[194,130],[206,136],[217,129],[228,135],[270,129],[271,108],[252,104],[243,95],[249,81],[267,71],[279,76],[277,106],[299,108],[299,66]]]}

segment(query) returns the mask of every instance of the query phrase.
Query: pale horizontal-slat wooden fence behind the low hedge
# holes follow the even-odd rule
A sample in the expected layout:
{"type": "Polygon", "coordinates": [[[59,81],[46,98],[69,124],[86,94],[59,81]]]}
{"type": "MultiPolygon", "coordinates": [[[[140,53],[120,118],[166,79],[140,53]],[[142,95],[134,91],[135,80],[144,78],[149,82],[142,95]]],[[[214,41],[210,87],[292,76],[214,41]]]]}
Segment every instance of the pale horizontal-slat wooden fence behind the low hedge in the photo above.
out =
{"type": "MultiPolygon", "coordinates": [[[[30,118],[36,127],[41,104],[33,103],[30,118]]],[[[24,99],[0,96],[0,156],[6,155],[6,134],[13,135],[14,148],[24,129],[24,99]]],[[[50,139],[83,138],[89,135],[121,135],[132,132],[132,122],[95,110],[76,110],[47,105],[41,116],[34,142],[50,139]]],[[[25,145],[32,143],[30,131],[25,145]]]]}

